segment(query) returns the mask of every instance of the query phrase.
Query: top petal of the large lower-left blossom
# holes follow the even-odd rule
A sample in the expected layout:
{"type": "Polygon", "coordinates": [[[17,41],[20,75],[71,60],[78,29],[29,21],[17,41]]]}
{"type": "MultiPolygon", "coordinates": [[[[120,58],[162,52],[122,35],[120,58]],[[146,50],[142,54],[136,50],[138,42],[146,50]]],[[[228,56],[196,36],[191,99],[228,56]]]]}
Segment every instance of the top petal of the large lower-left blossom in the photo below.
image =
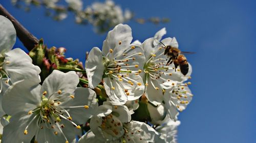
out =
{"type": "Polygon", "coordinates": [[[47,98],[61,99],[70,96],[76,89],[79,82],[79,77],[74,71],[63,73],[54,70],[42,83],[41,94],[45,91],[47,98]]]}

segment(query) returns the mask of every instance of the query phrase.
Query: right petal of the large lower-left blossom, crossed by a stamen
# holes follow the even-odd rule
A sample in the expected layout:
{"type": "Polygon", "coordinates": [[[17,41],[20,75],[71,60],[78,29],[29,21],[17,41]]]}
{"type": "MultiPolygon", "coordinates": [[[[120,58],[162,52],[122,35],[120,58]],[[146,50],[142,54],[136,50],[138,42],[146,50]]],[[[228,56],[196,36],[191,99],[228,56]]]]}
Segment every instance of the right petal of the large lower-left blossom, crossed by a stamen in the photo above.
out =
{"type": "Polygon", "coordinates": [[[96,93],[88,88],[77,88],[74,94],[75,98],[69,98],[59,106],[89,106],[88,109],[84,107],[79,108],[65,108],[70,113],[73,121],[77,124],[83,124],[95,113],[98,102],[96,100],[96,93]]]}

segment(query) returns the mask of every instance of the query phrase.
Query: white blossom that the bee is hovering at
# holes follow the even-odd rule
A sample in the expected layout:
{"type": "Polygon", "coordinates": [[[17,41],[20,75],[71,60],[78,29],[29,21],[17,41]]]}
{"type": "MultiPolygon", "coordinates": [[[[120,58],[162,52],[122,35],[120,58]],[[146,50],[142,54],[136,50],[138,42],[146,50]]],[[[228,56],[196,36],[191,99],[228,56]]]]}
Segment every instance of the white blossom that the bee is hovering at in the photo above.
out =
{"type": "MultiPolygon", "coordinates": [[[[153,38],[145,40],[141,47],[145,52],[144,73],[140,74],[143,77],[145,87],[145,95],[151,103],[159,105],[163,101],[163,90],[171,89],[177,82],[183,82],[191,74],[191,66],[186,76],[184,76],[180,69],[176,69],[174,64],[166,65],[168,56],[164,55],[164,45],[171,45],[178,48],[176,38],[165,38],[162,36],[166,34],[165,28],[162,28],[156,33],[153,38]],[[162,43],[160,43],[160,40],[162,43]]],[[[139,42],[137,42],[139,44],[139,42]]]]}

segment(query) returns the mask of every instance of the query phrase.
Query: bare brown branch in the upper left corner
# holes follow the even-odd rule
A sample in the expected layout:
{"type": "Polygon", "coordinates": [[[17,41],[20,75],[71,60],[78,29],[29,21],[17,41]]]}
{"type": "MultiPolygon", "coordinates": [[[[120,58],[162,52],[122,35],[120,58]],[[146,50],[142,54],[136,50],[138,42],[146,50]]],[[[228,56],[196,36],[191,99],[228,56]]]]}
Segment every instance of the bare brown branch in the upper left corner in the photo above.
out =
{"type": "Polygon", "coordinates": [[[0,15],[7,17],[12,24],[17,33],[17,37],[22,41],[23,45],[30,51],[38,44],[38,39],[32,35],[22,24],[18,22],[1,4],[0,4],[0,15]]]}

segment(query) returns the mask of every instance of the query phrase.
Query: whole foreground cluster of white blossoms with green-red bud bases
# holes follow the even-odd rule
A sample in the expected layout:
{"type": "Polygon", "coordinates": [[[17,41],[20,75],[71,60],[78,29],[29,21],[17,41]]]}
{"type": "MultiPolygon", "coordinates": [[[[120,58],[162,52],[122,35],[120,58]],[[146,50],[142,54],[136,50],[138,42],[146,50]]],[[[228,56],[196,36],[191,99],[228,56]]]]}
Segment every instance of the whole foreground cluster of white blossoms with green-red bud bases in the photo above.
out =
{"type": "Polygon", "coordinates": [[[168,64],[167,46],[178,49],[178,42],[162,39],[165,28],[141,43],[129,25],[116,25],[84,69],[70,68],[63,48],[48,57],[41,44],[29,54],[12,49],[15,28],[3,16],[0,31],[3,142],[177,142],[177,116],[193,97],[192,69],[187,63],[184,75],[168,64]]]}

